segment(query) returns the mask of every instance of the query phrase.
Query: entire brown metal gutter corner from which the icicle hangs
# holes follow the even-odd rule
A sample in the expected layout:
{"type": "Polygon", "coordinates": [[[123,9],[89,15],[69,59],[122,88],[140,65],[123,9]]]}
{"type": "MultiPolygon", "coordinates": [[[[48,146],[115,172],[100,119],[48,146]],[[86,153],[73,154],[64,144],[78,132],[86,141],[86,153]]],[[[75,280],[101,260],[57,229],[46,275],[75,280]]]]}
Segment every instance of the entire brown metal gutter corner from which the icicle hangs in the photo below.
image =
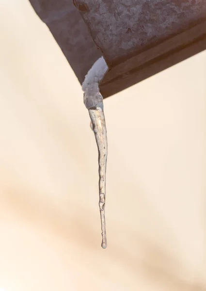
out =
{"type": "Polygon", "coordinates": [[[206,49],[206,0],[30,2],[80,83],[105,57],[104,98],[206,49]]]}

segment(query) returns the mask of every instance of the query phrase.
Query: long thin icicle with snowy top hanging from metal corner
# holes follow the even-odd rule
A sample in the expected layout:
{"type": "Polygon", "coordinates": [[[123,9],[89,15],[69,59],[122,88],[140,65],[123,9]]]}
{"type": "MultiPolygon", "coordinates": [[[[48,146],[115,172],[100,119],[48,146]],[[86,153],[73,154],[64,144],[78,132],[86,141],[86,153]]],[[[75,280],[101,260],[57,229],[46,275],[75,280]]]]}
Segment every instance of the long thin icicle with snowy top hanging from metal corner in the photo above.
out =
{"type": "Polygon", "coordinates": [[[103,57],[98,59],[89,70],[82,84],[84,104],[89,111],[92,129],[98,147],[99,163],[99,210],[102,229],[102,248],[107,247],[105,228],[106,166],[107,166],[107,129],[105,124],[103,97],[99,92],[99,82],[108,70],[103,57]]]}

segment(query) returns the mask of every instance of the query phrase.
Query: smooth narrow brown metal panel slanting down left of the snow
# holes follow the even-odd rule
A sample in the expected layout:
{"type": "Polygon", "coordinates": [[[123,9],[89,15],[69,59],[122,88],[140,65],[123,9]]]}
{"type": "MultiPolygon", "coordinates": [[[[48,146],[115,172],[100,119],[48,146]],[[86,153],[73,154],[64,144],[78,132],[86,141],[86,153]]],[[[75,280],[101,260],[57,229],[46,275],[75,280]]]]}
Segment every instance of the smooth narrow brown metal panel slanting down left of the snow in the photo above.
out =
{"type": "Polygon", "coordinates": [[[72,0],[30,0],[37,15],[47,24],[80,83],[101,52],[72,0]]]}

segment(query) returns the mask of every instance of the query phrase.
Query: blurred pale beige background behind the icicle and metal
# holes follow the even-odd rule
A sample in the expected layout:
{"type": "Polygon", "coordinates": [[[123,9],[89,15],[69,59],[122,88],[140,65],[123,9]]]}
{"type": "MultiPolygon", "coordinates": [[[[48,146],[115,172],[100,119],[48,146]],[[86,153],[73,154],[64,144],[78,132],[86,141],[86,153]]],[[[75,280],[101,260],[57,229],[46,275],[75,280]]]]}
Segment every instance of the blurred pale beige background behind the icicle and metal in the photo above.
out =
{"type": "Polygon", "coordinates": [[[206,52],[105,115],[103,250],[79,82],[29,1],[0,0],[0,291],[206,290],[206,52]]]}

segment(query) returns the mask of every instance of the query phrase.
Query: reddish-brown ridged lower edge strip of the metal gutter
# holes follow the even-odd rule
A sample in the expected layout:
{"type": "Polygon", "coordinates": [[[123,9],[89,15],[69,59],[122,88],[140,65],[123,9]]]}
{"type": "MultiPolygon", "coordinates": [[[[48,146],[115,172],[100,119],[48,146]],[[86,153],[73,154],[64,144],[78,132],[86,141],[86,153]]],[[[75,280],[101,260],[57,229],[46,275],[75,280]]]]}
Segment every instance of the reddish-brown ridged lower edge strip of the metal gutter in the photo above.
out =
{"type": "Polygon", "coordinates": [[[109,97],[205,49],[203,22],[111,67],[100,85],[101,94],[109,97]]]}

